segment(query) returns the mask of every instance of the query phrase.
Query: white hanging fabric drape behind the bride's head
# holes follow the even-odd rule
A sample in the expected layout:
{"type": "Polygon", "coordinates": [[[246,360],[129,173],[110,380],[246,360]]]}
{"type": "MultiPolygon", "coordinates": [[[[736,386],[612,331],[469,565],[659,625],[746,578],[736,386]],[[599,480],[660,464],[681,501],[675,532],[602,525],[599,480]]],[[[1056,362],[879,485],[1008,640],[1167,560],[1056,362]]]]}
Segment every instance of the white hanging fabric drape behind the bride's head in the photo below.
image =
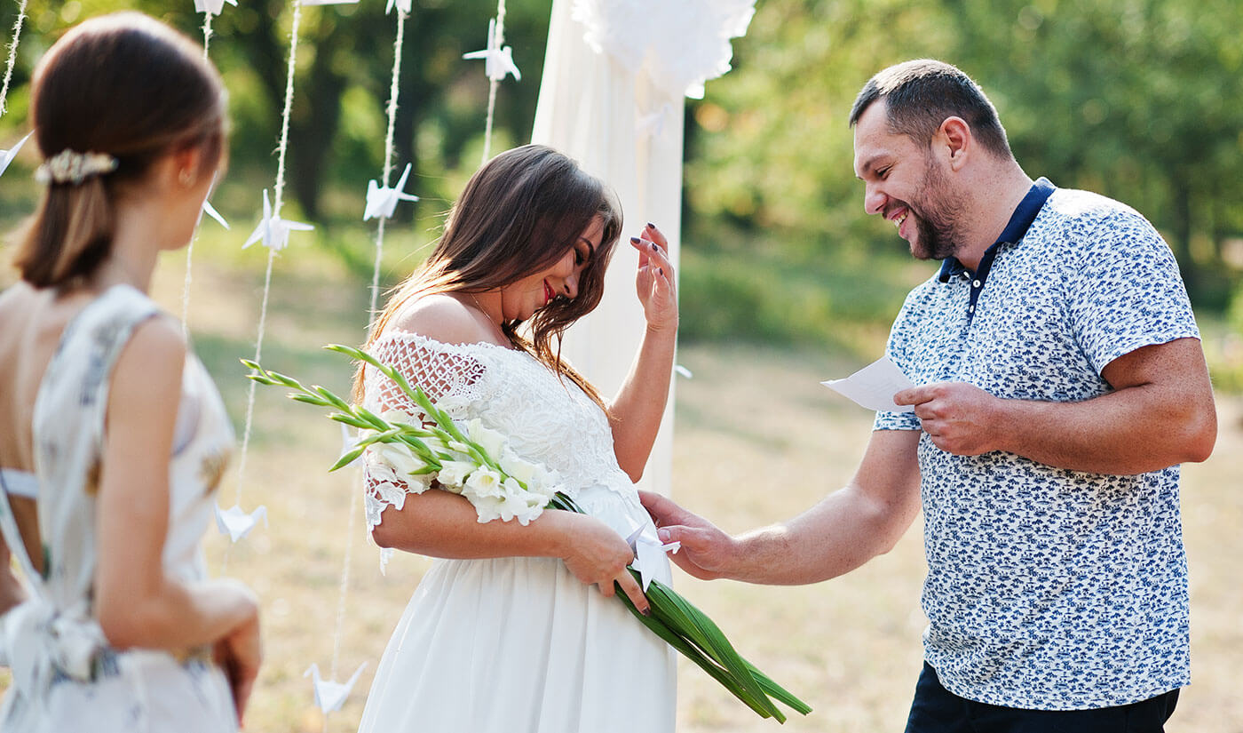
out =
{"type": "MultiPolygon", "coordinates": [[[[622,386],[643,338],[636,254],[626,240],[653,222],[681,245],[685,93],[728,70],[728,39],[746,32],[755,0],[553,0],[532,142],[576,158],[617,192],[625,230],[604,300],[562,350],[604,395],[622,386]],[[653,29],[660,29],[653,32],[653,29]]],[[[640,487],[667,494],[674,393],[640,487]]]]}

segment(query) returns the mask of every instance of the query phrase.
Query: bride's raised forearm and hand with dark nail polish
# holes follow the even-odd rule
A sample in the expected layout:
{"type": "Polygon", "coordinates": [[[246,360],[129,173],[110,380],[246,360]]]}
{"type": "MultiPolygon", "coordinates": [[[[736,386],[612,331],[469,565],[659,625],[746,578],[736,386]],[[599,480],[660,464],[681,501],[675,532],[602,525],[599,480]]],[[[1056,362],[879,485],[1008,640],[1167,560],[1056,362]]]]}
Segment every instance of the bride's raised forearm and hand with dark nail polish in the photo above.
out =
{"type": "Polygon", "coordinates": [[[648,224],[643,238],[633,238],[630,244],[639,250],[635,280],[648,327],[630,373],[609,406],[609,418],[618,465],[638,482],[669,401],[677,348],[677,287],[669,243],[659,229],[648,224]]]}

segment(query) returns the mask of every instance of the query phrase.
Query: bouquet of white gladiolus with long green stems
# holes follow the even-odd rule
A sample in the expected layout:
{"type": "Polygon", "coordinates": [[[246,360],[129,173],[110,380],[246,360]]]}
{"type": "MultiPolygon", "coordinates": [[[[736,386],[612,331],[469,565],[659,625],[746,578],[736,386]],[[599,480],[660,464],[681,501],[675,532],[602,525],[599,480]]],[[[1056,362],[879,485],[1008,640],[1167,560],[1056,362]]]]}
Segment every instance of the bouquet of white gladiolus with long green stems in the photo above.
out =
{"type": "MultiPolygon", "coordinates": [[[[293,390],[291,398],[327,407],[332,411],[329,419],[359,429],[354,447],[329,470],[348,465],[367,452],[373,470],[392,472],[394,478],[404,480],[414,493],[423,493],[435,484],[438,489],[461,494],[475,507],[481,523],[516,519],[526,525],[544,509],[583,513],[573,499],[559,490],[561,478],[556,472],[523,460],[513,453],[501,433],[484,427],[477,419],[466,422],[465,428],[459,426],[419,386],[411,386],[404,375],[380,363],[365,351],[338,345],[326,348],[379,370],[421,412],[419,416],[400,411],[375,414],[347,403],[329,390],[307,387],[292,377],[267,371],[254,361],[241,360],[254,370],[247,375],[251,380],[261,385],[290,387],[293,390]]],[[[634,566],[629,570],[643,582],[639,570],[634,566]]],[[[615,597],[644,626],[699,665],[761,717],[786,722],[786,716],[773,699],[804,716],[812,712],[807,703],[742,658],[720,627],[686,599],[658,580],[648,579],[645,587],[651,605],[650,615],[640,614],[624,592],[618,592],[615,597]]]]}

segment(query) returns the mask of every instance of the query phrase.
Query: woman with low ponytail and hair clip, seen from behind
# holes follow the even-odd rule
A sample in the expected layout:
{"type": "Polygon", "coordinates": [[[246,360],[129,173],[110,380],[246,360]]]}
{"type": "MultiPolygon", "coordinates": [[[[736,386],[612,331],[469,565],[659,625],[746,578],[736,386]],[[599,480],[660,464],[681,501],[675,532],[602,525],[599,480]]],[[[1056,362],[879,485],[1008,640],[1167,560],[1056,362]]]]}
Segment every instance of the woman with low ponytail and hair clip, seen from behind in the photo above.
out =
{"type": "Polygon", "coordinates": [[[147,296],[224,163],[224,87],[193,42],[117,14],[51,47],[31,117],[46,192],[0,295],[0,526],[29,580],[0,576],[0,729],[235,731],[257,602],[199,548],[232,431],[147,296]]]}

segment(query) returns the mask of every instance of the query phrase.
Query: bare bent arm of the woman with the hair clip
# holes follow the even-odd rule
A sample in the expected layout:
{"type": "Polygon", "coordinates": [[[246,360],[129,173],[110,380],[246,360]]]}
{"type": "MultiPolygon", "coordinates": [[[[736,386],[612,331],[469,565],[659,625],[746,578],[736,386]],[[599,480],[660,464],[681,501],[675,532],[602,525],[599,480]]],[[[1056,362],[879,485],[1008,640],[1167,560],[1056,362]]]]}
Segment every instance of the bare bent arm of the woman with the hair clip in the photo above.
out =
{"type": "Polygon", "coordinates": [[[163,319],[139,326],[112,375],[97,513],[94,612],[117,648],[218,645],[239,714],[259,667],[259,604],[231,580],[164,572],[169,455],[185,346],[163,319]]]}

